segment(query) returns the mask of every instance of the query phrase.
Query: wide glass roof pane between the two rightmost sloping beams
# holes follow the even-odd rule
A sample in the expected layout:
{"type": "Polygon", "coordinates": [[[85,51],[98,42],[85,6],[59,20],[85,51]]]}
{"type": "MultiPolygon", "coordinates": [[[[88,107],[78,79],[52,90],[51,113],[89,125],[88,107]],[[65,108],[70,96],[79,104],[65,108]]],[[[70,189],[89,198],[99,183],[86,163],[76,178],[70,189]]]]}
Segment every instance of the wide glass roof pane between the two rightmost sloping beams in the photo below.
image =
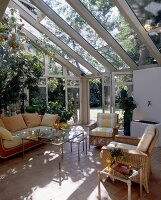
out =
{"type": "Polygon", "coordinates": [[[138,65],[153,63],[153,56],[137,38],[112,0],[80,1],[138,65]]]}

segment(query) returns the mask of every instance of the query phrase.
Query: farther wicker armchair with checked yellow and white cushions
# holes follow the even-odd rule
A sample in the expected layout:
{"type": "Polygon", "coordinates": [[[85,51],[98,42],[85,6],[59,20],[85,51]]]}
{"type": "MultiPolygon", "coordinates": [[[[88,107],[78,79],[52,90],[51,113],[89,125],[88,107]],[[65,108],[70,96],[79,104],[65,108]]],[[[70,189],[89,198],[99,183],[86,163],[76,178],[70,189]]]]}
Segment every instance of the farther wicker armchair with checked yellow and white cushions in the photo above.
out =
{"type": "Polygon", "coordinates": [[[118,134],[118,128],[117,113],[97,113],[97,122],[89,132],[89,147],[107,145],[118,134]]]}

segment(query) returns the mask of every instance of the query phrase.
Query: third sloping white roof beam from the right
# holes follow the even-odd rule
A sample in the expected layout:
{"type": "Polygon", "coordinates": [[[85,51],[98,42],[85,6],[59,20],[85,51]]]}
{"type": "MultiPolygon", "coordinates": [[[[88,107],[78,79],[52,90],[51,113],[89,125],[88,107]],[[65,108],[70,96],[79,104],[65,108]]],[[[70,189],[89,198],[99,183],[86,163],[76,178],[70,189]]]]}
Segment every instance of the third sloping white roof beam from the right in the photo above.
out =
{"type": "Polygon", "coordinates": [[[77,43],[79,43],[88,53],[90,53],[105,69],[114,71],[114,66],[108,62],[96,49],[92,47],[80,34],[78,34],[68,23],[66,23],[54,10],[52,10],[42,0],[30,0],[41,12],[49,19],[70,35],[77,43]]]}

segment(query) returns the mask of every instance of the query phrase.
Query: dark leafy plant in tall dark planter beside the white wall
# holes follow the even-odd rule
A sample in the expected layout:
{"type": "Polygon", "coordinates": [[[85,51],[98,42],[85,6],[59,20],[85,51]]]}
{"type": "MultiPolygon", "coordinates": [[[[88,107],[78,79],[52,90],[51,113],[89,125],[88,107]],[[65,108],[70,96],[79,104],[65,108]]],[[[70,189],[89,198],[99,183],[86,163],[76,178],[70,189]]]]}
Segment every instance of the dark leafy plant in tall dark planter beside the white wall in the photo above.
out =
{"type": "Polygon", "coordinates": [[[124,135],[130,136],[130,122],[132,121],[132,114],[136,108],[136,103],[133,97],[128,96],[127,91],[122,89],[116,99],[116,104],[124,111],[124,135]]]}

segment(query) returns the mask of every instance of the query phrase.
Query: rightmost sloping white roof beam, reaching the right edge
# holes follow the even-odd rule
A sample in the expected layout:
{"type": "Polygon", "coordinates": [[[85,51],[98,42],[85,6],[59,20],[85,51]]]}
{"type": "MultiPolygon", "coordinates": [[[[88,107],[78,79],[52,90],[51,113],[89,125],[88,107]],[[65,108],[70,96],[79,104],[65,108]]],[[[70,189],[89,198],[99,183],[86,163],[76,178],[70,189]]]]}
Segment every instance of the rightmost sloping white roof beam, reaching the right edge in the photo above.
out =
{"type": "Polygon", "coordinates": [[[154,56],[157,63],[161,65],[161,54],[158,48],[155,46],[151,40],[148,32],[141,25],[134,12],[129,7],[128,3],[125,0],[114,0],[116,6],[120,10],[121,14],[125,17],[125,20],[130,24],[130,26],[135,30],[138,35],[138,38],[143,42],[146,48],[149,50],[151,55],[154,56]]]}

